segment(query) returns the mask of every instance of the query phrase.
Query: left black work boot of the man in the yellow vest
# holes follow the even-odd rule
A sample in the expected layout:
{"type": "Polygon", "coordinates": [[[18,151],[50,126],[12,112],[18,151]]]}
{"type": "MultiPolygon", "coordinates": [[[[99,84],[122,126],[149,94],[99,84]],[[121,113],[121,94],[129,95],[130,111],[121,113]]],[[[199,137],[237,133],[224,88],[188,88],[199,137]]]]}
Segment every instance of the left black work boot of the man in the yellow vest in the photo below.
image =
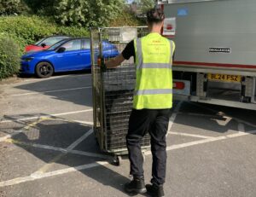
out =
{"type": "Polygon", "coordinates": [[[125,192],[129,194],[145,194],[147,189],[145,188],[144,178],[134,177],[130,183],[125,184],[125,192]]]}

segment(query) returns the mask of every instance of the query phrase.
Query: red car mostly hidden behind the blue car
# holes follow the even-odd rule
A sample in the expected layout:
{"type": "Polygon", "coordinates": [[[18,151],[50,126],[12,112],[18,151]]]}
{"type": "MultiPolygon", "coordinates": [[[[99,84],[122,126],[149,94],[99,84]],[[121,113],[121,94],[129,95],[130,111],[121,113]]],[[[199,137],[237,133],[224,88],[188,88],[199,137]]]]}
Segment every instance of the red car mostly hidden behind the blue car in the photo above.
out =
{"type": "Polygon", "coordinates": [[[67,36],[50,36],[40,39],[37,43],[27,45],[25,47],[25,51],[38,51],[38,50],[44,50],[48,49],[50,46],[52,46],[55,43],[58,43],[59,41],[69,38],[67,36]]]}

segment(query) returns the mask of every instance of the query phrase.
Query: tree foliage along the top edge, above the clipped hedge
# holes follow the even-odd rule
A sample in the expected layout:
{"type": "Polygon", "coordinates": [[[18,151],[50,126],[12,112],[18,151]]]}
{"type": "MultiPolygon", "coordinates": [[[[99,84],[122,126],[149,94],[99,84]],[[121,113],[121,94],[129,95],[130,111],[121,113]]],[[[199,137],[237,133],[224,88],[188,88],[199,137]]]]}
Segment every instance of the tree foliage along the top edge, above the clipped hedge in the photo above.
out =
{"type": "Polygon", "coordinates": [[[0,15],[49,16],[65,26],[108,26],[124,9],[125,0],[0,0],[0,15]]]}

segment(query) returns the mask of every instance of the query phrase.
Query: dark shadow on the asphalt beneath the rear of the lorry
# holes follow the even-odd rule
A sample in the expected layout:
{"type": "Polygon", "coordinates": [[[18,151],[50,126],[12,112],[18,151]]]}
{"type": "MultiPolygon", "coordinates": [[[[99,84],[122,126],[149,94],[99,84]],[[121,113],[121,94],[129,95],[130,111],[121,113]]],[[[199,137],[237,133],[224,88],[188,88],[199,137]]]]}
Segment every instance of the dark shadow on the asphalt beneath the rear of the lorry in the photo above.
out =
{"type": "Polygon", "coordinates": [[[183,102],[178,114],[179,116],[175,119],[176,124],[187,125],[189,127],[209,130],[217,133],[225,133],[229,130],[239,131],[239,121],[237,121],[237,119],[247,121],[249,124],[255,125],[256,117],[256,111],[253,110],[194,103],[189,101],[183,102]],[[230,115],[236,119],[229,119],[228,117],[230,115]]]}

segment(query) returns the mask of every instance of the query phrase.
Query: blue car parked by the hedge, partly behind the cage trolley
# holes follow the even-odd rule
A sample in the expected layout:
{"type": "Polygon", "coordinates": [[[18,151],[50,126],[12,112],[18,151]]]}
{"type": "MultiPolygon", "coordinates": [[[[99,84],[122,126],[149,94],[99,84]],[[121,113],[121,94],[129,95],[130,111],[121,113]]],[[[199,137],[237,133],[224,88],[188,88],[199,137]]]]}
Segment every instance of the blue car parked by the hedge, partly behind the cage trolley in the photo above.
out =
{"type": "MultiPolygon", "coordinates": [[[[108,41],[102,42],[102,51],[105,57],[119,55],[116,46],[108,41]]],[[[55,72],[89,70],[90,65],[90,39],[67,38],[49,49],[23,55],[20,72],[49,78],[55,72]]]]}

